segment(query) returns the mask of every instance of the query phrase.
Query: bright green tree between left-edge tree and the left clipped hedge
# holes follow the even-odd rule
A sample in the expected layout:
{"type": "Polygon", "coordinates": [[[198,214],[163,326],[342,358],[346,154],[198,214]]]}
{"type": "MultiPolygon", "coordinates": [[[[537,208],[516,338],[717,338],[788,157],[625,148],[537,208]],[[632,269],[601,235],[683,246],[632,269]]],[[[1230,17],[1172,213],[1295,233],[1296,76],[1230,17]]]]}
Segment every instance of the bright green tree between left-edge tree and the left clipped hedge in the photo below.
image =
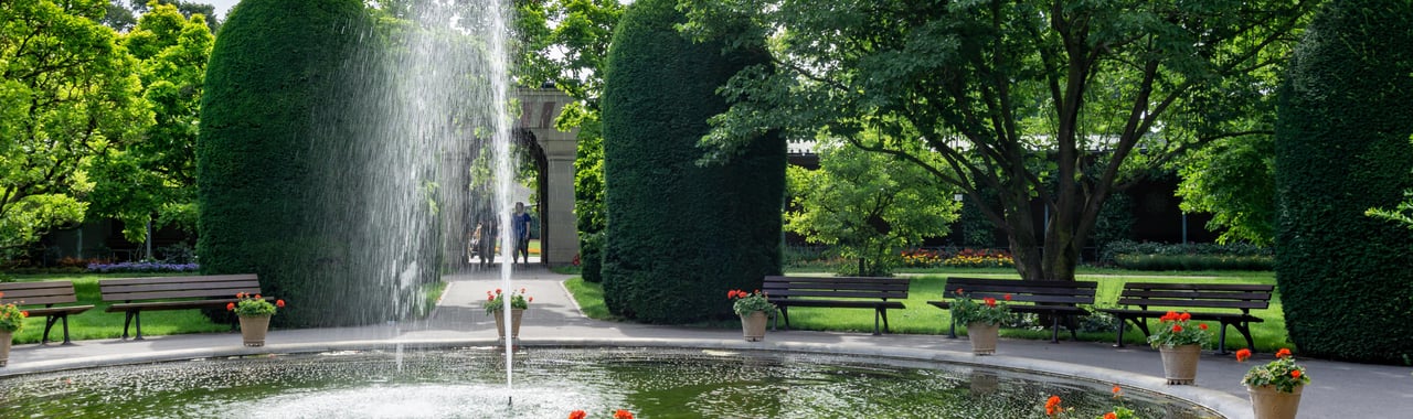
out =
{"type": "Polygon", "coordinates": [[[146,240],[154,217],[154,229],[174,224],[195,233],[201,92],[215,38],[201,16],[188,20],[158,4],[122,42],[140,62],[143,99],[157,123],[129,147],[99,157],[90,212],[123,220],[130,241],[146,240]]]}

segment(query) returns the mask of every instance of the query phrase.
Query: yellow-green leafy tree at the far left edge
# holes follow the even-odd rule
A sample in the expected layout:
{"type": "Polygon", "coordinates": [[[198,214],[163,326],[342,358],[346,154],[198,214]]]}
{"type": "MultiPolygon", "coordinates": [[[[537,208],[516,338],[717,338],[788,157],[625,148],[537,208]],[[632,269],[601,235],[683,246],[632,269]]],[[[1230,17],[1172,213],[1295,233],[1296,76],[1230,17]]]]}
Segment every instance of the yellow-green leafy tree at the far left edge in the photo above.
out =
{"type": "Polygon", "coordinates": [[[106,4],[0,3],[0,257],[82,221],[93,157],[153,124],[106,4]]]}

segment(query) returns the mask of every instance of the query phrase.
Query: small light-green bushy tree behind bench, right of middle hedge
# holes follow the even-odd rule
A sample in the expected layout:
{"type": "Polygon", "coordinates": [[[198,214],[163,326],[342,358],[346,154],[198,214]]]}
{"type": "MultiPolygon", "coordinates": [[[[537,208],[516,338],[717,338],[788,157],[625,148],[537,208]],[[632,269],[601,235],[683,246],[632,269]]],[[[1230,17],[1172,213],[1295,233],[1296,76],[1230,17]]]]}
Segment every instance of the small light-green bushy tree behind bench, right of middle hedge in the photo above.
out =
{"type": "Polygon", "coordinates": [[[903,248],[945,236],[957,220],[961,205],[937,199],[955,189],[923,168],[839,140],[820,148],[820,169],[787,169],[793,209],[786,229],[858,261],[844,264],[839,274],[887,277],[903,248]]]}

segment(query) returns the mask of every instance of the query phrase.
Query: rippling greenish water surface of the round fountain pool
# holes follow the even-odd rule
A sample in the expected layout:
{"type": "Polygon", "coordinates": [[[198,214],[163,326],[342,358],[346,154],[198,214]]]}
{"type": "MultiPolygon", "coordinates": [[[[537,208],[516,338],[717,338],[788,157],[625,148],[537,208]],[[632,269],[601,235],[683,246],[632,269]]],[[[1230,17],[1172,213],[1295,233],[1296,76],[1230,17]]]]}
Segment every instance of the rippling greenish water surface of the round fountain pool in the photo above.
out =
{"type": "Polygon", "coordinates": [[[0,379],[7,418],[1214,418],[1109,384],[930,361],[774,351],[493,347],[201,358],[0,379]]]}

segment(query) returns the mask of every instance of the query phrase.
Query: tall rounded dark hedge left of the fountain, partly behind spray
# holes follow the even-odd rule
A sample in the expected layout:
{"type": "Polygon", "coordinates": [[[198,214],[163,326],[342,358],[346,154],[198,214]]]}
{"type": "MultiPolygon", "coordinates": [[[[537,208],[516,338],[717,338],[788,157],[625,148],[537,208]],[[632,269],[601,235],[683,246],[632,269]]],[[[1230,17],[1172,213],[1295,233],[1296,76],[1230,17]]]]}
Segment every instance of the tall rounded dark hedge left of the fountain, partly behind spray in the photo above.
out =
{"type": "Polygon", "coordinates": [[[290,303],[277,324],[363,324],[393,309],[390,291],[357,281],[353,251],[379,245],[348,234],[359,220],[341,199],[357,185],[329,182],[353,124],[319,117],[343,104],[341,66],[367,24],[357,0],[244,0],[211,54],[196,253],[202,274],[259,274],[290,303]]]}

